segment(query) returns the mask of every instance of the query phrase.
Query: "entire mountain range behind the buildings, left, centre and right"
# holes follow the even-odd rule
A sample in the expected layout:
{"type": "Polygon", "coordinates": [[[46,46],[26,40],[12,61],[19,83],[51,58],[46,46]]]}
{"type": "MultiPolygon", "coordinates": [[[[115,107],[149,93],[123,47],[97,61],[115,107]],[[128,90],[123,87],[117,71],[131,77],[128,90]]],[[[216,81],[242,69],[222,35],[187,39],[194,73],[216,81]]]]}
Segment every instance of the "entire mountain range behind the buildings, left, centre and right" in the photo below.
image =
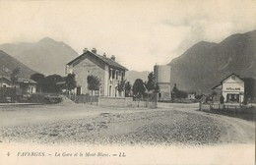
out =
{"type": "MultiPolygon", "coordinates": [[[[45,37],[38,42],[6,43],[0,45],[0,75],[8,76],[15,67],[21,76],[33,73],[63,76],[65,65],[78,56],[68,44],[45,37]],[[27,67],[28,66],[28,67],[27,67]]],[[[241,78],[256,78],[256,30],[236,33],[220,43],[201,41],[173,59],[170,66],[170,83],[178,89],[209,93],[211,88],[235,73],[241,78]]],[[[131,84],[136,79],[148,80],[150,72],[128,71],[131,84]]]]}

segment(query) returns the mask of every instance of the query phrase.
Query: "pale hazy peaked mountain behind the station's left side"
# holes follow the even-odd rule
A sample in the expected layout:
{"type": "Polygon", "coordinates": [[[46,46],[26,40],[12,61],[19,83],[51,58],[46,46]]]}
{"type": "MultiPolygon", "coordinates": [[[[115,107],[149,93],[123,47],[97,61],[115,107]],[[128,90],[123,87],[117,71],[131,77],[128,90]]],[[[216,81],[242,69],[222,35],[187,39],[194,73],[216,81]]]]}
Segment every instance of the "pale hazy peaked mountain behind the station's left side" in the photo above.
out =
{"type": "Polygon", "coordinates": [[[78,56],[78,53],[69,45],[50,37],[42,38],[34,43],[1,44],[0,50],[44,75],[64,76],[66,64],[78,56]]]}

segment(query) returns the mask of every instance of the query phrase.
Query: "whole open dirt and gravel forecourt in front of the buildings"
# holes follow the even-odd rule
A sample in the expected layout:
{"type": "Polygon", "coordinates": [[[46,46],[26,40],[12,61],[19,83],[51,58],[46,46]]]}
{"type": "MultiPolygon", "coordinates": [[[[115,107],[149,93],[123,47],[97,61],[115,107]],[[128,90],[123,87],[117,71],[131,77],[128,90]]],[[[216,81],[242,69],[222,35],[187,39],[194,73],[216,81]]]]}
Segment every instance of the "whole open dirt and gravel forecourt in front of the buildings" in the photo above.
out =
{"type": "Polygon", "coordinates": [[[255,143],[255,122],[198,111],[198,104],[158,109],[61,103],[0,108],[0,141],[36,143],[255,143]]]}

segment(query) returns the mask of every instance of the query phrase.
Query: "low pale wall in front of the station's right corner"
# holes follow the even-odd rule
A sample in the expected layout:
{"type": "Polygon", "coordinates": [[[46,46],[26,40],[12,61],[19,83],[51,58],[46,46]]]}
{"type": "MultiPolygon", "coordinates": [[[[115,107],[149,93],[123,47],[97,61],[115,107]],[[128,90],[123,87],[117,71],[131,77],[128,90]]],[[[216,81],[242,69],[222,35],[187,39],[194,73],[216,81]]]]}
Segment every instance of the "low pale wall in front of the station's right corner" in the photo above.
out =
{"type": "Polygon", "coordinates": [[[99,106],[108,107],[132,107],[133,98],[132,97],[98,97],[99,106]]]}

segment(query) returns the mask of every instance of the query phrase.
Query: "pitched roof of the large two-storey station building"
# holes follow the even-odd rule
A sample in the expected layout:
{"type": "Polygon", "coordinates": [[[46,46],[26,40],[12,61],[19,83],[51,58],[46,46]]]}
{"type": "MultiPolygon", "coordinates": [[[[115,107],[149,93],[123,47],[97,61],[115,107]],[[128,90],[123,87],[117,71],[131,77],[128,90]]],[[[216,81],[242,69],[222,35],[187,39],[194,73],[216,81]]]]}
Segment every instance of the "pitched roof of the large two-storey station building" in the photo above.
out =
{"type": "Polygon", "coordinates": [[[79,60],[83,60],[84,57],[86,57],[87,55],[93,55],[95,56],[99,61],[105,63],[106,65],[113,67],[113,68],[117,68],[117,69],[122,69],[122,70],[126,70],[128,71],[127,68],[123,67],[122,65],[118,64],[117,62],[111,60],[110,58],[98,55],[96,53],[93,53],[91,51],[86,51],[85,53],[83,53],[82,55],[78,56],[77,58],[75,58],[74,60],[70,61],[67,65],[72,65],[75,62],[79,61],[79,60]]]}

